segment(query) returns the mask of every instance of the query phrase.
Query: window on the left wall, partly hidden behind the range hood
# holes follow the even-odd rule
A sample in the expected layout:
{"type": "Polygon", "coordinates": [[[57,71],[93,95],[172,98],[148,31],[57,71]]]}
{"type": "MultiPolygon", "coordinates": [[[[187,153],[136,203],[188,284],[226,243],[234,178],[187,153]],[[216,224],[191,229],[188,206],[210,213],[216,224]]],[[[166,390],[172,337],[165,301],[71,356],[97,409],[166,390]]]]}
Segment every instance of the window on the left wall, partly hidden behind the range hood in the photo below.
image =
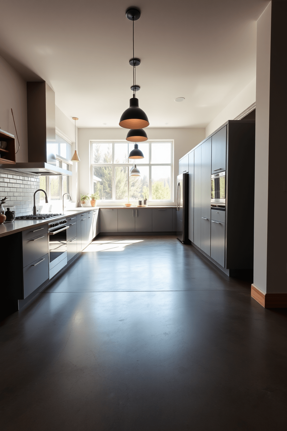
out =
{"type": "MultiPolygon", "coordinates": [[[[56,141],[53,145],[53,152],[56,154],[56,166],[71,171],[69,161],[72,156],[72,145],[56,134],[56,141]]],[[[64,193],[71,194],[71,177],[66,175],[40,176],[40,188],[45,190],[49,201],[60,200],[64,193]]],[[[44,200],[45,195],[40,192],[40,200],[44,200]]],[[[68,200],[65,195],[64,200],[68,200]]]]}

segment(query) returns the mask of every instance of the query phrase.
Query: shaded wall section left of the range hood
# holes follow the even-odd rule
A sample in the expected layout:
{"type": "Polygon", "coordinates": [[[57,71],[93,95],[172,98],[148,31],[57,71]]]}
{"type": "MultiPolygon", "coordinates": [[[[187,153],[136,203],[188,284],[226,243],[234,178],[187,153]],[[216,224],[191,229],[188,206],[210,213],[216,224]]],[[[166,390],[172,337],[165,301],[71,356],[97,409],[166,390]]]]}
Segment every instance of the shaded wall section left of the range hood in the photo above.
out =
{"type": "Polygon", "coordinates": [[[20,141],[16,162],[28,162],[26,81],[2,57],[0,57],[0,94],[0,128],[15,135],[17,151],[18,141],[11,113],[12,108],[20,141]]]}

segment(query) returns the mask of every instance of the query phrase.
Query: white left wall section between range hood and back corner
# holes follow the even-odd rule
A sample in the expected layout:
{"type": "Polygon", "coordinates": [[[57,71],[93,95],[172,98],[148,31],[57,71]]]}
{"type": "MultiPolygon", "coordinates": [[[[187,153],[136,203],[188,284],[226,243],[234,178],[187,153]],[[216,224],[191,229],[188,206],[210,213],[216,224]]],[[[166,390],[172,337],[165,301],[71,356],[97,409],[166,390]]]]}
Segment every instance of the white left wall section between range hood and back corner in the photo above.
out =
{"type": "MultiPolygon", "coordinates": [[[[69,119],[65,114],[55,106],[56,109],[56,133],[57,129],[72,142],[72,155],[75,150],[75,123],[72,119],[69,119]]],[[[77,151],[78,151],[78,128],[76,126],[76,141],[77,141],[77,151]]],[[[73,202],[77,202],[77,197],[79,194],[79,166],[78,162],[73,162],[72,166],[72,178],[71,178],[71,197],[73,202]]]]}

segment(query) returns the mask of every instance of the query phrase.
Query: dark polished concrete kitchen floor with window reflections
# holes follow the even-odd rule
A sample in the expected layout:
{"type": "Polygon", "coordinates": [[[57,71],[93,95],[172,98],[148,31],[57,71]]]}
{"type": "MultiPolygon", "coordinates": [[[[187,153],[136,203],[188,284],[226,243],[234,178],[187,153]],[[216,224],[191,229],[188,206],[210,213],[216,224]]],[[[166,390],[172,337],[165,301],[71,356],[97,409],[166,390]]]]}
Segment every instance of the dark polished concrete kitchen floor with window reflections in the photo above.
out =
{"type": "Polygon", "coordinates": [[[173,236],[100,237],[1,332],[1,430],[283,431],[286,310],[173,236]]]}

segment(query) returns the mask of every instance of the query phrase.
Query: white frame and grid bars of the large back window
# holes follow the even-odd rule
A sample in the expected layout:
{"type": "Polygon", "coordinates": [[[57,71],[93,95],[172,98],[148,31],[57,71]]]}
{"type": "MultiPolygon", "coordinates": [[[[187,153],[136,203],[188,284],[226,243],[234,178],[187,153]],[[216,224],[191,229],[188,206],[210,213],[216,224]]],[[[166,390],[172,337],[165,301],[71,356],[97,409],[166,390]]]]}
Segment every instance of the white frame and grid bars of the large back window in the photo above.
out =
{"type": "MultiPolygon", "coordinates": [[[[112,168],[112,199],[99,200],[99,202],[123,202],[123,200],[115,199],[115,167],[116,166],[127,166],[128,172],[133,167],[134,162],[136,163],[136,159],[131,163],[114,163],[114,144],[122,143],[122,144],[131,144],[130,142],[124,139],[92,139],[89,141],[89,153],[90,153],[90,193],[94,191],[94,181],[93,181],[93,168],[94,166],[111,166],[112,168]],[[111,163],[93,163],[93,144],[111,144],[112,145],[112,162],[111,163]]],[[[148,139],[144,141],[144,143],[149,144],[148,157],[149,163],[140,163],[137,164],[137,167],[140,169],[141,167],[148,166],[149,168],[149,178],[148,178],[148,201],[149,202],[174,202],[174,139],[148,139]],[[170,163],[151,163],[151,144],[152,143],[170,143],[170,163]],[[170,166],[170,199],[152,199],[152,183],[151,183],[151,168],[152,166],[170,166]]],[[[134,143],[133,143],[134,144],[134,143]]],[[[141,142],[138,142],[139,149],[141,142]]],[[[131,160],[131,159],[129,159],[131,160]]],[[[128,181],[128,199],[130,200],[130,175],[127,178],[128,181]]],[[[132,200],[130,202],[136,202],[136,200],[132,200]]]]}

